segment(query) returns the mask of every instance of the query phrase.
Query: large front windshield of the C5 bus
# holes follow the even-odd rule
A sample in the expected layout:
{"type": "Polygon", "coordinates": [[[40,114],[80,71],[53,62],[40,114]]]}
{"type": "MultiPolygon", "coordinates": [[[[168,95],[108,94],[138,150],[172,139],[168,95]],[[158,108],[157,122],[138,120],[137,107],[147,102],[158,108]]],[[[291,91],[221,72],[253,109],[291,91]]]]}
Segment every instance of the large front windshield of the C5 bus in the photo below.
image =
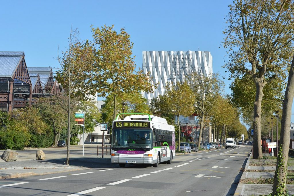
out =
{"type": "Polygon", "coordinates": [[[123,150],[132,147],[137,150],[150,150],[153,148],[151,129],[112,129],[111,148],[113,150],[123,150]]]}

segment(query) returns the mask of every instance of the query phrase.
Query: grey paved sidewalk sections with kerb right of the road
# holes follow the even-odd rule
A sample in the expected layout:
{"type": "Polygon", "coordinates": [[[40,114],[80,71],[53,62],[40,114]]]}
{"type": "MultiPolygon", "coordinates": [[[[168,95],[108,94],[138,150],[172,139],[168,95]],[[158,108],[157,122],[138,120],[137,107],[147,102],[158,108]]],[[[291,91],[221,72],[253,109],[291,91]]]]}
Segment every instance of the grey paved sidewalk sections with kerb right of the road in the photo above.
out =
{"type": "MultiPolygon", "coordinates": [[[[251,154],[248,157],[245,170],[240,180],[246,178],[273,178],[275,175],[275,166],[249,166],[251,154]]],[[[288,167],[288,170],[293,170],[288,167]]],[[[290,195],[294,194],[294,185],[286,185],[290,195]]],[[[270,184],[245,184],[239,182],[234,195],[251,196],[251,195],[268,195],[272,193],[273,185],[270,184]]]]}

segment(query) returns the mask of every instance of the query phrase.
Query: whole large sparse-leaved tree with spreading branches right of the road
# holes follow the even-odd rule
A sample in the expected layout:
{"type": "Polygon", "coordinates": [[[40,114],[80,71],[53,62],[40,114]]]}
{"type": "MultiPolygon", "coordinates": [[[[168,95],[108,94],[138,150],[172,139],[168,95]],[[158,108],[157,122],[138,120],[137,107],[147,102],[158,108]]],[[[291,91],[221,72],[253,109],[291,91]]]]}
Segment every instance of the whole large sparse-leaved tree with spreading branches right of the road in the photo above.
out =
{"type": "Polygon", "coordinates": [[[293,51],[293,0],[235,0],[229,7],[223,42],[229,60],[224,67],[232,78],[248,74],[255,84],[253,158],[262,158],[258,144],[263,88],[277,76],[285,78],[283,66],[293,51]]]}

